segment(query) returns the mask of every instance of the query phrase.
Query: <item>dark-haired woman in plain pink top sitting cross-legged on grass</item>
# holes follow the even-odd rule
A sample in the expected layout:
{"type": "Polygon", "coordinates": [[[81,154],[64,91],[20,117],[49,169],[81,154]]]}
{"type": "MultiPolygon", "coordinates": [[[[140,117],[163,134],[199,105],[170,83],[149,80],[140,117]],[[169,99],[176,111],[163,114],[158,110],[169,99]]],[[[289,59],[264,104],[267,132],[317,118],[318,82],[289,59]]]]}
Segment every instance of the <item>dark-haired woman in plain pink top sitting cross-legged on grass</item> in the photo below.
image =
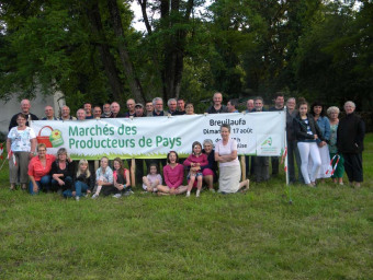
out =
{"type": "Polygon", "coordinates": [[[187,186],[182,185],[184,180],[184,166],[179,164],[177,152],[171,151],[167,154],[167,165],[163,167],[163,178],[166,186],[158,185],[159,195],[180,195],[187,191],[187,186]]]}

